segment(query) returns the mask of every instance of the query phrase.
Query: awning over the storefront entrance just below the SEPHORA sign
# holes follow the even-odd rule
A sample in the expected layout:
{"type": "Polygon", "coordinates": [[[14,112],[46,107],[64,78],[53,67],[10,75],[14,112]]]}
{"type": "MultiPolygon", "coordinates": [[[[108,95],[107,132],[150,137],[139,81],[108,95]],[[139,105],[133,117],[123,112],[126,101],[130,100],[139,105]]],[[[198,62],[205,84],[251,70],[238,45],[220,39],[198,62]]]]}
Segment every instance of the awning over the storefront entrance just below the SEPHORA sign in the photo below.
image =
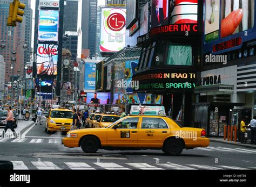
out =
{"type": "Polygon", "coordinates": [[[234,92],[234,85],[208,85],[200,86],[194,89],[195,93],[205,93],[206,95],[222,95],[222,94],[231,94],[234,92]]]}

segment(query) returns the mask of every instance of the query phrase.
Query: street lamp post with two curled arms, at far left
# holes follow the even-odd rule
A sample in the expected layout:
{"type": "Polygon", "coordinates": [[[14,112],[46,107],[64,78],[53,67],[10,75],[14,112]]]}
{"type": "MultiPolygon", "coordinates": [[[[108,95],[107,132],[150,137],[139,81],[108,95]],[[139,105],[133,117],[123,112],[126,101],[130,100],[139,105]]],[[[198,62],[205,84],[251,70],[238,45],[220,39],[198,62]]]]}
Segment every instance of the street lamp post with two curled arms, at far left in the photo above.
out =
{"type": "Polygon", "coordinates": [[[15,51],[14,51],[14,48],[11,46],[11,43],[9,41],[6,41],[6,40],[2,40],[2,44],[1,44],[1,48],[4,49],[6,47],[6,45],[4,44],[4,42],[7,42],[9,44],[9,46],[11,47],[12,49],[12,57],[11,57],[11,67],[12,67],[12,73],[11,73],[11,107],[12,107],[12,104],[14,102],[14,66],[15,66],[15,63],[16,63],[16,56],[17,56],[17,49],[18,49],[18,46],[21,45],[21,44],[24,44],[23,45],[23,48],[26,49],[28,48],[28,45],[26,45],[26,41],[21,41],[21,42],[18,42],[16,48],[15,48],[15,51]]]}

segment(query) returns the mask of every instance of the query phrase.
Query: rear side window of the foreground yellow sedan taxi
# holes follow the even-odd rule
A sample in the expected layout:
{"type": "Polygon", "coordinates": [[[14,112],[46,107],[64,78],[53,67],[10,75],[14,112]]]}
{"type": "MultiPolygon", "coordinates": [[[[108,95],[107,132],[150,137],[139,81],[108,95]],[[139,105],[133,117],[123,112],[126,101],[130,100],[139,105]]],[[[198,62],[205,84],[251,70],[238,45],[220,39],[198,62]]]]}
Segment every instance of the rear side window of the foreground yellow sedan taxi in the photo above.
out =
{"type": "Polygon", "coordinates": [[[160,118],[143,118],[142,128],[168,128],[163,119],[160,118]]]}

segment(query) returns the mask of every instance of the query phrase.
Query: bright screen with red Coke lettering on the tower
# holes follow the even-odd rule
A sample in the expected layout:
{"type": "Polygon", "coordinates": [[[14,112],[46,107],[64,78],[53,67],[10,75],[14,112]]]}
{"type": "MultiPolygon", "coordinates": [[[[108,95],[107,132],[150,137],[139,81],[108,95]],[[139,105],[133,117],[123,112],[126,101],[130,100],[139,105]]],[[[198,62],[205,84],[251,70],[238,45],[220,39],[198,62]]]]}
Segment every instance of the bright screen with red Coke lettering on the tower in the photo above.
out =
{"type": "Polygon", "coordinates": [[[57,75],[58,46],[38,44],[37,75],[57,75]]]}

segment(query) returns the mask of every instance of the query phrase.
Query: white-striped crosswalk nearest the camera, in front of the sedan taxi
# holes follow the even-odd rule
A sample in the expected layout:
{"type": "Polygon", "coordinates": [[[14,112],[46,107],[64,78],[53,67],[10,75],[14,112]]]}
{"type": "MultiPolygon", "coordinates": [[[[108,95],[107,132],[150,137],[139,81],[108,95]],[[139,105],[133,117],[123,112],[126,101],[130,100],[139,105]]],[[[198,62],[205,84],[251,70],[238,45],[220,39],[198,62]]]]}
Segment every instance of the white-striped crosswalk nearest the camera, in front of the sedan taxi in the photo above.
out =
{"type": "Polygon", "coordinates": [[[114,163],[114,162],[23,162],[11,161],[14,170],[249,170],[252,167],[237,166],[207,166],[204,164],[176,164],[166,163],[114,163]]]}

